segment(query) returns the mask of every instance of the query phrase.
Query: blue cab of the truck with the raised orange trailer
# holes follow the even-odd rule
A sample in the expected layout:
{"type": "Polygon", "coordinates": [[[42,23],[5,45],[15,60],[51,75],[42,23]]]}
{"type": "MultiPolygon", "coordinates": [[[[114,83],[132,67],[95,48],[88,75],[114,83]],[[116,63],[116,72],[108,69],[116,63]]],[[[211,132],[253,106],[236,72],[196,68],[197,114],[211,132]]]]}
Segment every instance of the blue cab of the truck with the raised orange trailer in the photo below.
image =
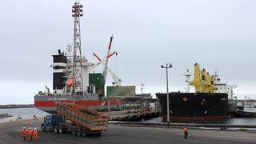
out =
{"type": "Polygon", "coordinates": [[[58,126],[62,122],[64,122],[64,118],[62,115],[59,115],[59,114],[46,115],[46,117],[44,117],[44,121],[42,122],[41,130],[42,131],[54,130],[54,127],[58,126]]]}

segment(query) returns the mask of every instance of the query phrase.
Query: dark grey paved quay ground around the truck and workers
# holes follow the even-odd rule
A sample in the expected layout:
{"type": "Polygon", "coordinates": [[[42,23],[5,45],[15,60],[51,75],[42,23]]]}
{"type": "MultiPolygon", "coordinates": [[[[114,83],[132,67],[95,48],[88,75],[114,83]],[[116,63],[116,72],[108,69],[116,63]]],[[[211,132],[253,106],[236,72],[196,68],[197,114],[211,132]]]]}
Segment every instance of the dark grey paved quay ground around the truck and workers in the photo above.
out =
{"type": "MultiPolygon", "coordinates": [[[[23,126],[40,128],[42,118],[37,121],[28,120],[0,123],[0,143],[23,142],[20,134],[23,126]]],[[[55,134],[54,132],[38,132],[37,143],[123,143],[123,144],[159,144],[159,143],[255,143],[255,133],[242,131],[190,130],[189,138],[184,140],[182,130],[176,128],[130,127],[110,124],[109,129],[101,137],[78,137],[72,134],[55,134]]]]}

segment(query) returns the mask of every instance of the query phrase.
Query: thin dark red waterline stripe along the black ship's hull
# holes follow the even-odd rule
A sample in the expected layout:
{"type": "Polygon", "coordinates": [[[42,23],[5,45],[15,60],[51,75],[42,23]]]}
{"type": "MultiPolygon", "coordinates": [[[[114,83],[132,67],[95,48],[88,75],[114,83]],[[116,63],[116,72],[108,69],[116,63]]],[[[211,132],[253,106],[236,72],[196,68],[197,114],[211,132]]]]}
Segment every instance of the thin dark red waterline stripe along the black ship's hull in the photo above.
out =
{"type": "MultiPolygon", "coordinates": [[[[167,119],[166,115],[162,116],[163,119],[167,119]]],[[[222,116],[212,116],[212,117],[172,117],[170,116],[170,120],[182,120],[182,121],[203,121],[203,120],[216,120],[216,119],[224,119],[229,118],[228,115],[222,115],[222,116]]]]}

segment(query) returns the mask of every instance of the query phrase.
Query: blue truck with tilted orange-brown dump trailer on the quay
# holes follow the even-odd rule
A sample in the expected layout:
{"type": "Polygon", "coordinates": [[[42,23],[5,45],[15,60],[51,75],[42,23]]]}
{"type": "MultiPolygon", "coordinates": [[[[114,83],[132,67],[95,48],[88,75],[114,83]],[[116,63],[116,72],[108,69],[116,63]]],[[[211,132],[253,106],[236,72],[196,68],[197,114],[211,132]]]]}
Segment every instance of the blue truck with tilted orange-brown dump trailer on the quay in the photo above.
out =
{"type": "Polygon", "coordinates": [[[107,130],[109,116],[74,103],[58,103],[57,113],[46,115],[41,130],[71,132],[78,136],[101,135],[107,130]]]}

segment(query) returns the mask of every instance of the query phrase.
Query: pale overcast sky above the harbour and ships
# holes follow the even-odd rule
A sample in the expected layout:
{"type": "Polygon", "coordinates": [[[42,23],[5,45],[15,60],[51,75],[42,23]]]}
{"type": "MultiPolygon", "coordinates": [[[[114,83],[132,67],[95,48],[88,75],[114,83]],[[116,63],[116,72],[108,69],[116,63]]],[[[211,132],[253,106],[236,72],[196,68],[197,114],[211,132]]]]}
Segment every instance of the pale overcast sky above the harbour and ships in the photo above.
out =
{"type": "MultiPolygon", "coordinates": [[[[145,84],[144,93],[185,90],[184,74],[194,63],[223,82],[238,84],[238,98],[256,98],[256,1],[254,0],[81,0],[82,54],[106,55],[122,85],[145,84]]],[[[34,94],[52,88],[52,54],[72,44],[74,1],[0,1],[0,104],[34,103],[34,94]]],[[[98,72],[102,67],[97,68],[98,72]]],[[[112,79],[109,75],[107,85],[112,79]]],[[[191,87],[191,90],[194,88],[191,87]]]]}

